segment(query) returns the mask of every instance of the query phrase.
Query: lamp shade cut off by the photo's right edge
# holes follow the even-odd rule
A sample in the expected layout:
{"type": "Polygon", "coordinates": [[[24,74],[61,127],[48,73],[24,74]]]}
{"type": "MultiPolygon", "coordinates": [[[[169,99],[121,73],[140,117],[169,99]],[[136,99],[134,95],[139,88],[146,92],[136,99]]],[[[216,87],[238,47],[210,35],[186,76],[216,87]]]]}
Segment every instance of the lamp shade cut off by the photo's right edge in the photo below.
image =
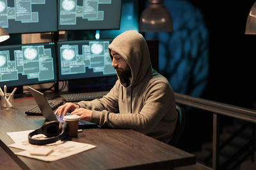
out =
{"type": "Polygon", "coordinates": [[[256,34],[256,2],[253,4],[247,17],[245,34],[256,34]]]}

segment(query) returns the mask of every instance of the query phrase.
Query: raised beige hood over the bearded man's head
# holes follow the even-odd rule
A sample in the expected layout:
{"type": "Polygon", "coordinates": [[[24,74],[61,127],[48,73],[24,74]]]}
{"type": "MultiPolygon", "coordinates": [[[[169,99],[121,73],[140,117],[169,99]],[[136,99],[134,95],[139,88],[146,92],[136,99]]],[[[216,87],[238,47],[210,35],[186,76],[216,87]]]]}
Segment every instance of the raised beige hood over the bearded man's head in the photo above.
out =
{"type": "MultiPolygon", "coordinates": [[[[148,46],[143,36],[138,31],[126,31],[116,36],[108,46],[109,55],[113,50],[121,55],[131,68],[132,79],[130,86],[135,86],[151,71],[151,60],[148,46]]],[[[117,75],[118,76],[118,75],[117,75]]],[[[119,76],[118,79],[120,80],[119,76]]]]}

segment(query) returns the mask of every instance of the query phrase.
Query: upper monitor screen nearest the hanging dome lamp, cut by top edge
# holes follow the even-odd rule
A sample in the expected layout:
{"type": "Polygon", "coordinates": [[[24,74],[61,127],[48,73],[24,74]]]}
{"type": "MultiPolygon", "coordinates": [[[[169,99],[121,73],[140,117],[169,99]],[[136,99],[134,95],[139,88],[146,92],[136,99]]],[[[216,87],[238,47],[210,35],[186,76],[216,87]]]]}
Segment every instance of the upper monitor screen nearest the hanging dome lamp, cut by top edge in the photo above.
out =
{"type": "Polygon", "coordinates": [[[122,0],[58,0],[58,30],[119,29],[122,0]]]}

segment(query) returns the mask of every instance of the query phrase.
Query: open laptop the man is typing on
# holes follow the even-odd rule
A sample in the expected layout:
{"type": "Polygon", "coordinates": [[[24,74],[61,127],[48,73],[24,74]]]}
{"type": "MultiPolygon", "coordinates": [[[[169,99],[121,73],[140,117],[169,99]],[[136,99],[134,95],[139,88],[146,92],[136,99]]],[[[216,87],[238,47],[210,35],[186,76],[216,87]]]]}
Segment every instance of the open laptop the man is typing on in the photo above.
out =
{"type": "MultiPolygon", "coordinates": [[[[32,87],[28,87],[28,89],[31,92],[31,95],[34,97],[38,107],[42,111],[42,114],[45,117],[45,121],[56,120],[59,122],[65,122],[63,120],[63,116],[59,117],[58,115],[54,115],[51,106],[47,102],[47,99],[42,92],[38,92],[38,90],[35,90],[32,87]]],[[[99,127],[99,125],[92,122],[87,122],[85,120],[79,120],[79,129],[85,129],[90,127],[99,127]]]]}

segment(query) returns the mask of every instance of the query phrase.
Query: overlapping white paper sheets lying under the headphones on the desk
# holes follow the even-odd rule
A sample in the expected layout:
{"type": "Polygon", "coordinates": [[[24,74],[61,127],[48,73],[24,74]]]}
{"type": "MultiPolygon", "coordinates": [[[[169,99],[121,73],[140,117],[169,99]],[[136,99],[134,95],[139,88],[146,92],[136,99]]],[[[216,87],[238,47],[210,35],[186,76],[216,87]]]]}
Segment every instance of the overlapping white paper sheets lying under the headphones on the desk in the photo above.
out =
{"type": "MultiPolygon", "coordinates": [[[[10,138],[15,141],[12,145],[13,148],[19,148],[24,150],[22,152],[15,153],[16,155],[21,155],[25,157],[30,157],[34,159],[40,159],[45,161],[54,161],[69,157],[70,155],[75,155],[76,153],[84,152],[95,148],[95,145],[90,145],[87,143],[78,143],[75,141],[56,141],[56,143],[51,143],[47,145],[31,145],[28,142],[28,134],[31,131],[20,131],[20,132],[7,132],[10,138]],[[30,150],[35,150],[35,148],[51,148],[53,152],[49,153],[47,156],[31,155],[30,150]]],[[[34,136],[33,136],[34,137],[34,136]]],[[[36,138],[45,138],[44,135],[38,134],[36,138]]]]}

